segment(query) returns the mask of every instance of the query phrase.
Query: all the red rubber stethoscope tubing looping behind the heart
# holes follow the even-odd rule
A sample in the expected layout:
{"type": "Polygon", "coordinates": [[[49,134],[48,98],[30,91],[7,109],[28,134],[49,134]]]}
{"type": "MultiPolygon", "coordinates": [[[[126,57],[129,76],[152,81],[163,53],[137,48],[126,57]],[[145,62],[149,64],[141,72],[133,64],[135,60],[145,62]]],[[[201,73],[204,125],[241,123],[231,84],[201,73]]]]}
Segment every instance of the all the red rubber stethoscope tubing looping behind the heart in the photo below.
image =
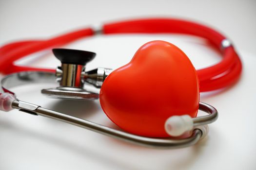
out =
{"type": "MultiPolygon", "coordinates": [[[[223,55],[223,59],[208,68],[197,70],[200,91],[212,91],[233,85],[241,75],[242,65],[235,49],[231,46],[221,49],[222,40],[225,36],[217,31],[197,24],[195,22],[169,19],[151,18],[128,20],[103,25],[103,34],[190,34],[209,40],[216,46],[223,55]]],[[[54,69],[30,68],[16,66],[13,63],[31,53],[54,48],[72,42],[82,37],[94,35],[91,28],[82,29],[76,32],[63,34],[48,40],[30,40],[7,44],[0,48],[0,72],[4,74],[25,70],[41,70],[54,72],[54,69]]]]}

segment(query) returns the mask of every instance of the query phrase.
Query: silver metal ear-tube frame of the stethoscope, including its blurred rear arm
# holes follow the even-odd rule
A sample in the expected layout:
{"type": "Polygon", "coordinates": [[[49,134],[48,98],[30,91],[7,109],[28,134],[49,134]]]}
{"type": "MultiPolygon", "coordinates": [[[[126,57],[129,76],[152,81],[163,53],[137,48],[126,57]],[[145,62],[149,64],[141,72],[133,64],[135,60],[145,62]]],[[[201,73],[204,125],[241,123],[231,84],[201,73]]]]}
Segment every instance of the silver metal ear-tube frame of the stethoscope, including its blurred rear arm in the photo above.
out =
{"type": "Polygon", "coordinates": [[[193,122],[193,128],[190,129],[191,136],[187,138],[155,138],[137,136],[116,129],[112,129],[85,119],[79,119],[70,115],[62,114],[53,110],[43,108],[36,104],[19,101],[14,93],[8,90],[8,88],[15,85],[25,85],[31,82],[54,82],[56,79],[55,74],[49,72],[20,72],[6,76],[1,80],[2,90],[5,93],[0,95],[0,109],[3,111],[9,111],[10,108],[18,109],[22,112],[32,115],[43,116],[51,119],[57,119],[66,123],[70,123],[88,130],[98,132],[100,134],[115,137],[124,141],[135,143],[138,145],[153,147],[153,148],[181,148],[196,144],[200,139],[208,133],[208,123],[212,123],[217,119],[217,110],[209,104],[200,102],[199,109],[208,113],[207,116],[201,116],[197,118],[191,118],[193,122]],[[15,85],[13,84],[15,82],[15,85]],[[6,96],[9,96],[6,98],[6,96]],[[8,110],[2,108],[9,108],[8,110]]]}

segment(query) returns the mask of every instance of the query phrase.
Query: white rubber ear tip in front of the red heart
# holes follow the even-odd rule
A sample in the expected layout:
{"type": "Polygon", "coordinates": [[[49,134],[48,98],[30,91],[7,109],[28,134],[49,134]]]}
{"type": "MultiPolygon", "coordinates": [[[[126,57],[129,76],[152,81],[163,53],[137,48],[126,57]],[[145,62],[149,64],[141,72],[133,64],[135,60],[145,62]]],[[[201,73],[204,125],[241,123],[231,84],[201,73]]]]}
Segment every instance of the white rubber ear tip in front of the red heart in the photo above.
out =
{"type": "Polygon", "coordinates": [[[164,128],[170,136],[181,136],[193,129],[193,120],[189,115],[172,116],[165,121],[164,128]]]}

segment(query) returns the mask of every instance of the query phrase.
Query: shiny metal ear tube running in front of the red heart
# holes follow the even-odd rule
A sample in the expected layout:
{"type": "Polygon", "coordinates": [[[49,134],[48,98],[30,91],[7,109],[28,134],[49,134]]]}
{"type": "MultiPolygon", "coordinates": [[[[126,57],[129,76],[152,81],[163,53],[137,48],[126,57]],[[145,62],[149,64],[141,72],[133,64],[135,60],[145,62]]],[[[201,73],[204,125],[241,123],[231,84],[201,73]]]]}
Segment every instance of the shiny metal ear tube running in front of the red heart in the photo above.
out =
{"type": "Polygon", "coordinates": [[[39,105],[31,104],[28,102],[22,102],[15,100],[12,102],[12,107],[19,109],[20,111],[32,114],[39,115],[51,119],[56,119],[63,121],[69,124],[73,124],[106,136],[115,137],[124,141],[135,143],[138,145],[151,147],[151,148],[164,148],[164,149],[175,149],[188,147],[196,144],[201,138],[207,135],[208,127],[205,125],[212,123],[217,119],[218,113],[217,110],[209,104],[200,102],[199,109],[207,112],[209,115],[192,118],[195,123],[194,129],[192,130],[191,136],[187,138],[153,138],[153,137],[144,137],[129,134],[123,131],[119,131],[107,126],[100,125],[98,123],[91,122],[89,120],[76,118],[70,115],[59,113],[53,110],[49,110],[39,105]],[[204,126],[202,126],[204,125],[204,126]]]}

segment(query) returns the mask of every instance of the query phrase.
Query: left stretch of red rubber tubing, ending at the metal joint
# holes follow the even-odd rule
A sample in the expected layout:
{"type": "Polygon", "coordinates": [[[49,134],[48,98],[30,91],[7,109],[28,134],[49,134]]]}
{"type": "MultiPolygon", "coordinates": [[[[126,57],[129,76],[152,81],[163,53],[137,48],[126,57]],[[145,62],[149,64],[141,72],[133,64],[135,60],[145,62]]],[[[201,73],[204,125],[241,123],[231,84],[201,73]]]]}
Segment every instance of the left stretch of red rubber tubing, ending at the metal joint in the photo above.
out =
{"type": "MultiPolygon", "coordinates": [[[[56,46],[61,46],[63,44],[67,44],[74,40],[77,40],[81,37],[92,36],[94,31],[91,28],[82,29],[76,32],[63,34],[57,36],[55,38],[51,38],[48,40],[38,40],[38,41],[22,41],[7,44],[0,48],[0,71],[4,74],[18,72],[21,70],[45,70],[40,68],[28,68],[28,67],[20,67],[20,66],[12,66],[13,63],[31,53],[54,48],[56,46]],[[8,51],[8,52],[7,52],[8,51]]],[[[49,71],[53,71],[52,69],[46,69],[49,71]]]]}

